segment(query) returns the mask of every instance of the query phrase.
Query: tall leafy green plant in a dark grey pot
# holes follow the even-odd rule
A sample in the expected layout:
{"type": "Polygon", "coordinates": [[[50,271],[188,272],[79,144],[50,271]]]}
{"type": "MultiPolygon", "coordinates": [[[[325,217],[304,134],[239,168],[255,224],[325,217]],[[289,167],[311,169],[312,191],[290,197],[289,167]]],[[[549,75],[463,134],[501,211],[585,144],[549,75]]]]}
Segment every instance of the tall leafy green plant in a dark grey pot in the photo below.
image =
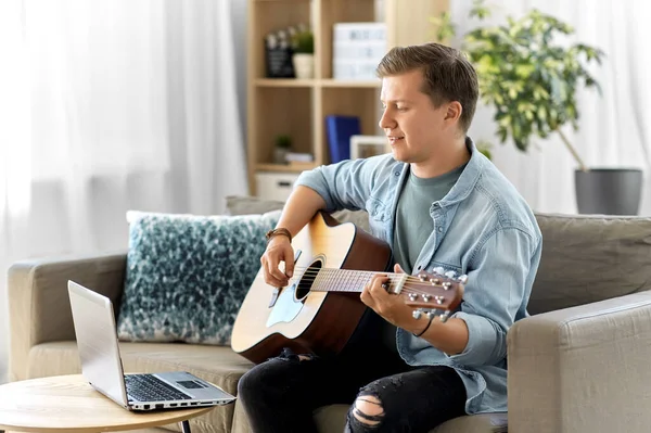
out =
{"type": "MultiPolygon", "coordinates": [[[[470,16],[483,20],[489,15],[483,0],[475,0],[470,16]]],[[[431,21],[439,40],[455,36],[449,13],[431,21]]],[[[501,143],[510,138],[526,152],[535,137],[558,133],[577,164],[579,213],[637,214],[641,170],[588,168],[563,132],[566,125],[578,128],[577,89],[585,86],[600,91],[587,65],[601,64],[604,55],[584,43],[554,43],[557,37],[573,33],[570,25],[533,9],[520,20],[507,17],[506,25],[469,31],[462,36],[461,50],[475,66],[482,101],[495,109],[501,143]]]]}

